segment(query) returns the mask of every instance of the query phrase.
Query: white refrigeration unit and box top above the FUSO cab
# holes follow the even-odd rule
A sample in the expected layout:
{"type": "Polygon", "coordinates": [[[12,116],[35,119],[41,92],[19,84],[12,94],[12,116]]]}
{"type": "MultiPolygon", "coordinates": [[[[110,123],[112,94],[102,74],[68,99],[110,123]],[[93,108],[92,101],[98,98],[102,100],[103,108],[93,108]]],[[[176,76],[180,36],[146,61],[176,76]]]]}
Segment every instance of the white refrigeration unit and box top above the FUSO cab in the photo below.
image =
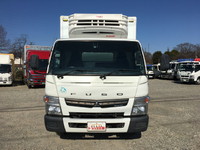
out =
{"type": "Polygon", "coordinates": [[[60,17],[60,38],[136,39],[136,17],[122,14],[73,14],[60,17]]]}

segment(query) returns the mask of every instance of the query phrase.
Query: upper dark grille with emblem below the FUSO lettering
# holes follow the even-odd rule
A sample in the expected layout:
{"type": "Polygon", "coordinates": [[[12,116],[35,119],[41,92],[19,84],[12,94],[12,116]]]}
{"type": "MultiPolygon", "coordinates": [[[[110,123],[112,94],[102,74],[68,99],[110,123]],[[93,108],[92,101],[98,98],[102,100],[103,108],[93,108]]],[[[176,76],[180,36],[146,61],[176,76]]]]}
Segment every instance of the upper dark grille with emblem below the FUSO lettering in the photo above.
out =
{"type": "Polygon", "coordinates": [[[73,100],[73,99],[65,99],[65,102],[69,106],[76,107],[121,107],[126,106],[128,104],[128,99],[119,99],[119,100],[73,100]]]}

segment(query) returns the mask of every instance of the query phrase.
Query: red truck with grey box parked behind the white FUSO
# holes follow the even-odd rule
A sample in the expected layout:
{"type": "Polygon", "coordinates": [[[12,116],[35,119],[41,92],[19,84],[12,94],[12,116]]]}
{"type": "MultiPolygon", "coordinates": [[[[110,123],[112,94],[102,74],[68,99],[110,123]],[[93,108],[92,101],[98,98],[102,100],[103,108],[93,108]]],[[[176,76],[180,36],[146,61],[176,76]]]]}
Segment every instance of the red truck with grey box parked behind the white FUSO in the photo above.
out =
{"type": "Polygon", "coordinates": [[[28,88],[45,84],[46,69],[50,53],[51,47],[49,46],[24,46],[24,82],[27,84],[28,88]]]}

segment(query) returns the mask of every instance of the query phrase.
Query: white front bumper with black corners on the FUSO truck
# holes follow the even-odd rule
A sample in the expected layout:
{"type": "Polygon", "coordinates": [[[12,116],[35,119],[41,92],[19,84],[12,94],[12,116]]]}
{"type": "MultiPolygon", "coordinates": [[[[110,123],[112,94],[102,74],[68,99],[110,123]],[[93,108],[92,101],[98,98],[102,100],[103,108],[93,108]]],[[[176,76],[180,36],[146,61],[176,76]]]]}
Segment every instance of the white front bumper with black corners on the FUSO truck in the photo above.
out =
{"type": "Polygon", "coordinates": [[[88,121],[104,121],[107,125],[124,124],[124,126],[116,125],[112,128],[108,127],[105,133],[134,133],[147,130],[149,117],[148,115],[144,115],[116,119],[74,119],[62,116],[45,115],[44,120],[46,129],[52,132],[91,133],[87,131],[88,121]],[[81,124],[81,126],[70,126],[70,124],[81,124]]]}

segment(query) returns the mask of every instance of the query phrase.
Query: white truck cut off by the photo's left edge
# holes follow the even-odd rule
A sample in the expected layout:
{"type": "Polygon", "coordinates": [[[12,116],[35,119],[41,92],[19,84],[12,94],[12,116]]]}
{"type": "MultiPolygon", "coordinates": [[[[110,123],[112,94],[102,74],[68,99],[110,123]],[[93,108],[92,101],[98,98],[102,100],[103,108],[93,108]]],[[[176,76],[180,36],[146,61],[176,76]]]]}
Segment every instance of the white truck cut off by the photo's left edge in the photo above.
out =
{"type": "Polygon", "coordinates": [[[0,53],[0,85],[13,83],[14,55],[0,53]]]}

